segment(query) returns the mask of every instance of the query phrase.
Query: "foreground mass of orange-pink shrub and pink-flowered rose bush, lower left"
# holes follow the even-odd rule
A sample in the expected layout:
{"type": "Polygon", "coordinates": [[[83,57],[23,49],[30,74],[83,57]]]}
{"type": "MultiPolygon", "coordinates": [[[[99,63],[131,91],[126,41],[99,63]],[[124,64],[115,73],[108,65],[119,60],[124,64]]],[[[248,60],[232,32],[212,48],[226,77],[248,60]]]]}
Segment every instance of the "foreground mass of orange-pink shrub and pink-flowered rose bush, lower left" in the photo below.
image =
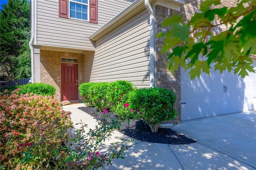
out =
{"type": "Polygon", "coordinates": [[[88,132],[82,122],[73,129],[70,113],[51,96],[5,92],[0,93],[0,169],[98,169],[124,158],[124,143],[98,151],[120,127],[117,120],[102,117],[88,132]]]}

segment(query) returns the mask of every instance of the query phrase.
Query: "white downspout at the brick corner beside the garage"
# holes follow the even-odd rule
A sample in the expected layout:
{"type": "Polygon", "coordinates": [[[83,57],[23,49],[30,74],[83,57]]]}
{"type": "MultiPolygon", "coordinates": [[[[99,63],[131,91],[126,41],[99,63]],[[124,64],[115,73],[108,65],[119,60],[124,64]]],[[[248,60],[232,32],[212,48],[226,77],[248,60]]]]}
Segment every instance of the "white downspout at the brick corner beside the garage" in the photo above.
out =
{"type": "Polygon", "coordinates": [[[149,0],[144,2],[150,14],[150,87],[155,87],[155,13],[149,0]]]}

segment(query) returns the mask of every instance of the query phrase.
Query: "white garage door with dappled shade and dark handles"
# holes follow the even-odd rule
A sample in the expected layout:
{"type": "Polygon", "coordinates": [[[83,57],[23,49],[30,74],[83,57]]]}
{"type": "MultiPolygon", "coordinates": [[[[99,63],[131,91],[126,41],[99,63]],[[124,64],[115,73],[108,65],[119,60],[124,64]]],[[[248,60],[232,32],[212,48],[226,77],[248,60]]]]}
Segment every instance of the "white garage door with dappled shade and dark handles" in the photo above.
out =
{"type": "Polygon", "coordinates": [[[242,79],[212,70],[192,81],[187,73],[181,69],[181,121],[256,109],[256,73],[242,79]]]}

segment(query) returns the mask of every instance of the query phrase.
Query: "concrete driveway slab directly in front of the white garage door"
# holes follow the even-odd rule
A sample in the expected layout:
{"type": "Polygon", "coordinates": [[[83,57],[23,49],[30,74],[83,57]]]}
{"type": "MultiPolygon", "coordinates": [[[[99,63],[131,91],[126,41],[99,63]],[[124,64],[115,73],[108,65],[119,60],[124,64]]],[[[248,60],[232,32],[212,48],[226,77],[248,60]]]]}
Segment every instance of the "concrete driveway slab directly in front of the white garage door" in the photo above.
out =
{"type": "MultiPolygon", "coordinates": [[[[228,166],[234,169],[243,169],[240,167],[240,162],[248,165],[249,168],[256,168],[255,110],[183,122],[173,129],[195,139],[202,146],[215,150],[217,155],[222,153],[234,158],[228,163],[228,166]]],[[[185,153],[177,152],[177,154],[180,154],[185,163],[188,158],[185,153]]],[[[205,154],[209,160],[214,155],[205,154]]]]}

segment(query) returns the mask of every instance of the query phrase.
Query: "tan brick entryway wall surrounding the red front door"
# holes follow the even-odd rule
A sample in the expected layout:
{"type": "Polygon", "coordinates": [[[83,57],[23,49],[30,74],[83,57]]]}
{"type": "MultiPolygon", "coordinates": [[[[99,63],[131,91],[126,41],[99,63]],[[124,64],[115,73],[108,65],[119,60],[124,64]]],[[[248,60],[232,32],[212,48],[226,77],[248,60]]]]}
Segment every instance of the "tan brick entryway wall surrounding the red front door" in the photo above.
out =
{"type": "Polygon", "coordinates": [[[40,80],[56,88],[54,98],[58,101],[61,90],[61,58],[78,58],[79,84],[84,83],[84,54],[61,51],[40,50],[40,80]]]}

